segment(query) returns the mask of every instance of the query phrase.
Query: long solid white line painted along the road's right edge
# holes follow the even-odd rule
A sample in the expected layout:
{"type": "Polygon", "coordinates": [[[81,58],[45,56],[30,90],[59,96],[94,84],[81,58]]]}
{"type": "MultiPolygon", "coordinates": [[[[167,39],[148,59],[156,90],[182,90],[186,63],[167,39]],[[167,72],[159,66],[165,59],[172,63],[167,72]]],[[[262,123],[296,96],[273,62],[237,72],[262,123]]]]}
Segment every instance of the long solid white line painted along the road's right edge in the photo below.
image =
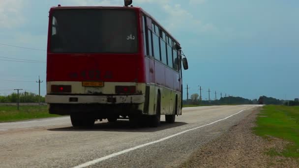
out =
{"type": "MultiPolygon", "coordinates": [[[[256,107],[256,106],[254,106],[254,107],[256,107]]],[[[251,107],[251,108],[249,108],[249,109],[252,109],[252,108],[254,108],[254,107],[251,107]]],[[[120,152],[116,152],[116,153],[113,153],[113,154],[110,154],[110,155],[107,155],[107,156],[104,156],[104,157],[95,159],[95,160],[93,160],[93,161],[86,162],[86,163],[84,163],[84,164],[78,165],[78,166],[73,167],[73,168],[85,168],[85,167],[88,167],[88,166],[90,166],[90,165],[94,165],[94,164],[96,164],[96,163],[99,163],[99,162],[102,162],[102,161],[104,161],[104,160],[107,160],[107,159],[116,157],[116,156],[118,156],[118,155],[121,155],[121,154],[130,152],[130,151],[132,151],[132,150],[139,149],[139,148],[142,148],[142,147],[145,147],[145,146],[154,144],[154,143],[158,143],[158,142],[161,142],[161,141],[164,141],[164,140],[168,140],[168,139],[170,139],[170,138],[176,137],[176,136],[181,135],[181,134],[184,134],[184,133],[186,133],[186,132],[189,132],[189,131],[192,131],[192,130],[196,130],[196,129],[199,129],[199,128],[202,128],[202,127],[205,127],[205,126],[208,126],[208,125],[211,125],[211,124],[214,124],[214,123],[216,123],[216,122],[225,120],[225,119],[230,118],[230,117],[232,117],[232,116],[234,116],[234,115],[236,115],[236,114],[238,114],[238,113],[240,113],[240,112],[243,112],[243,111],[246,111],[246,110],[249,110],[249,109],[241,110],[241,111],[239,111],[239,112],[237,112],[237,113],[234,113],[234,114],[232,114],[232,115],[230,115],[230,116],[228,116],[228,117],[219,119],[219,120],[214,121],[214,122],[211,122],[211,123],[209,123],[209,124],[202,125],[202,126],[199,126],[199,127],[196,127],[196,128],[192,128],[192,129],[189,129],[189,130],[185,130],[185,131],[179,132],[179,133],[177,133],[177,134],[174,134],[174,135],[171,135],[171,136],[162,138],[162,139],[160,139],[160,140],[155,140],[155,141],[152,141],[152,142],[149,142],[149,143],[145,143],[145,144],[138,145],[138,146],[135,146],[135,147],[132,147],[132,148],[129,148],[129,149],[125,149],[125,150],[122,150],[122,151],[120,151],[120,152]]]]}

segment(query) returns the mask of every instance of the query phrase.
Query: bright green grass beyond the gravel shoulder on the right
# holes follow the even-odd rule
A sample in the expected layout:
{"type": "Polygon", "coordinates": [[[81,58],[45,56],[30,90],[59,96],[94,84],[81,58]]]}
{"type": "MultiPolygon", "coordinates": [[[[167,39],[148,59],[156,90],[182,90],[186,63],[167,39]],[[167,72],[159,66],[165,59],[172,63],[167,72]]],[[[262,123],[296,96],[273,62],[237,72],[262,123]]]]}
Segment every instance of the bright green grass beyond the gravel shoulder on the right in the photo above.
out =
{"type": "Polygon", "coordinates": [[[256,123],[256,135],[265,138],[272,136],[292,142],[283,151],[271,148],[267,154],[299,158],[299,106],[264,106],[256,123]]]}

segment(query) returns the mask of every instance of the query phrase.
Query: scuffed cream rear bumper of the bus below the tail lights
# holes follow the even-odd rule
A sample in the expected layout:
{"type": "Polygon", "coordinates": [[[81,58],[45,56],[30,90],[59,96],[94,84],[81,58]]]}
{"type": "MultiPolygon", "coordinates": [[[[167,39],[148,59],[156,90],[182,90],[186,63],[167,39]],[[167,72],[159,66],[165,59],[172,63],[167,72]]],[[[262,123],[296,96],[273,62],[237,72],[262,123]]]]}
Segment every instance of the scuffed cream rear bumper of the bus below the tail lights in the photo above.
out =
{"type": "Polygon", "coordinates": [[[49,104],[141,104],[145,102],[144,95],[46,95],[49,104]]]}

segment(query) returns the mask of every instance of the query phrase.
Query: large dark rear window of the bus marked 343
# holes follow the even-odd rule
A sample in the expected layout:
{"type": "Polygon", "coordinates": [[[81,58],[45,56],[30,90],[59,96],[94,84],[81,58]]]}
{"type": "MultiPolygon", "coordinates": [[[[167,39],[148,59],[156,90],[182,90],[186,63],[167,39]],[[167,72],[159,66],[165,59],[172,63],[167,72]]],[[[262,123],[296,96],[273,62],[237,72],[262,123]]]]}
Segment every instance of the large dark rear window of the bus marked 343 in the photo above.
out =
{"type": "Polygon", "coordinates": [[[53,53],[138,52],[137,16],[133,10],[62,9],[52,15],[53,53]]]}

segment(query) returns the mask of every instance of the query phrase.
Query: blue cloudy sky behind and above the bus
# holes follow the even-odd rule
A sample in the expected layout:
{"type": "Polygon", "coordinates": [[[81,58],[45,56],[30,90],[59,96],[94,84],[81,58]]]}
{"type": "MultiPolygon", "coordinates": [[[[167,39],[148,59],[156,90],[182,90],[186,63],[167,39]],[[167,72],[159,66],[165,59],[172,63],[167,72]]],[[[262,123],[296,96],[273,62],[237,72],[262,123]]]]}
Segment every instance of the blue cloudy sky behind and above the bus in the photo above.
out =
{"type": "MultiPolygon", "coordinates": [[[[123,0],[0,0],[0,95],[15,88],[38,93],[38,76],[46,94],[48,11],[58,4],[122,6],[123,0]],[[40,62],[16,62],[21,59],[40,62]]],[[[298,0],[133,0],[133,5],[179,40],[189,62],[183,72],[189,94],[199,93],[200,85],[203,99],[208,89],[217,98],[220,92],[299,98],[298,0]]]]}

